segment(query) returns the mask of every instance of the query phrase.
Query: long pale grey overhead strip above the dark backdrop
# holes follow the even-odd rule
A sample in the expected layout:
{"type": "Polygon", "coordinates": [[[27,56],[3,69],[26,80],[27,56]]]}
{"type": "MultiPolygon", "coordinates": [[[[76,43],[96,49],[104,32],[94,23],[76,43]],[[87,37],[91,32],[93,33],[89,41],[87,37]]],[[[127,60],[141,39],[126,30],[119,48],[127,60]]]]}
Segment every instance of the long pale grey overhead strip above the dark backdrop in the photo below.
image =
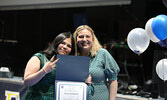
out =
{"type": "Polygon", "coordinates": [[[0,0],[0,10],[125,5],[130,3],[131,0],[0,0]]]}

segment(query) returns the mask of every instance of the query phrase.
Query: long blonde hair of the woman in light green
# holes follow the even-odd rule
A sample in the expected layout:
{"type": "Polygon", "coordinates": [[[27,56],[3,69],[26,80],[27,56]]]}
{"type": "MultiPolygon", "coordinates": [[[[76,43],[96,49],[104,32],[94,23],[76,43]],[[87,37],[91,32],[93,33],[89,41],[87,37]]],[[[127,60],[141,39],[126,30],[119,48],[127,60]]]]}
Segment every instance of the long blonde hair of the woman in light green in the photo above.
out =
{"type": "Polygon", "coordinates": [[[79,55],[80,54],[79,51],[78,51],[78,46],[77,46],[77,36],[78,36],[78,33],[81,30],[84,30],[84,29],[90,31],[91,34],[92,34],[92,37],[93,37],[93,45],[92,45],[92,48],[91,48],[91,51],[92,51],[91,56],[93,57],[93,56],[96,55],[96,53],[99,51],[99,49],[102,48],[102,46],[100,45],[98,39],[96,38],[93,29],[91,27],[89,27],[88,25],[81,25],[81,26],[79,26],[75,30],[74,34],[73,34],[74,45],[75,45],[75,55],[79,55]]]}

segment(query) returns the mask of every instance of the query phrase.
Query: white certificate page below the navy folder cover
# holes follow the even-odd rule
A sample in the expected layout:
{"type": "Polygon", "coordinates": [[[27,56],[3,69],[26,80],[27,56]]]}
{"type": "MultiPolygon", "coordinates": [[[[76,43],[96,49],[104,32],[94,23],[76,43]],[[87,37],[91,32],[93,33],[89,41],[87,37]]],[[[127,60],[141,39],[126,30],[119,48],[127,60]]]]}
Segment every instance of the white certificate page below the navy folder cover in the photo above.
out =
{"type": "Polygon", "coordinates": [[[87,100],[88,86],[84,82],[55,82],[55,100],[87,100]]]}

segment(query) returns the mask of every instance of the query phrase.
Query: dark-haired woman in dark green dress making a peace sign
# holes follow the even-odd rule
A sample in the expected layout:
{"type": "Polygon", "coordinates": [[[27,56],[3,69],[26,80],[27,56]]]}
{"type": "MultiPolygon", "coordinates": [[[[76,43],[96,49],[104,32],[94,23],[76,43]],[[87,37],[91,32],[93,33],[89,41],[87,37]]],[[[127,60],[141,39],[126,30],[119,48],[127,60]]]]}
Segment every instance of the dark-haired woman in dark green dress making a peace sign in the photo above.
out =
{"type": "Polygon", "coordinates": [[[54,100],[56,55],[69,55],[72,36],[60,33],[44,51],[34,54],[24,73],[24,85],[28,87],[23,100],[54,100]]]}

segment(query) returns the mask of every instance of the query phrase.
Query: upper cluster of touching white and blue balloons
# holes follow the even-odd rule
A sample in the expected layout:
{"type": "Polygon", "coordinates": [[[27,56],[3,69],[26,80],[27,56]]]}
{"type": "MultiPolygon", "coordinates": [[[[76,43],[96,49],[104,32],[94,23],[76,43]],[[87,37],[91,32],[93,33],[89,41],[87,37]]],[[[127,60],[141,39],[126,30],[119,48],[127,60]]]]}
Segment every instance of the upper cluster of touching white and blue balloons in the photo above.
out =
{"type": "Polygon", "coordinates": [[[149,46],[150,40],[162,47],[167,47],[167,16],[158,15],[147,21],[145,29],[134,28],[127,37],[129,48],[140,55],[149,46]]]}

